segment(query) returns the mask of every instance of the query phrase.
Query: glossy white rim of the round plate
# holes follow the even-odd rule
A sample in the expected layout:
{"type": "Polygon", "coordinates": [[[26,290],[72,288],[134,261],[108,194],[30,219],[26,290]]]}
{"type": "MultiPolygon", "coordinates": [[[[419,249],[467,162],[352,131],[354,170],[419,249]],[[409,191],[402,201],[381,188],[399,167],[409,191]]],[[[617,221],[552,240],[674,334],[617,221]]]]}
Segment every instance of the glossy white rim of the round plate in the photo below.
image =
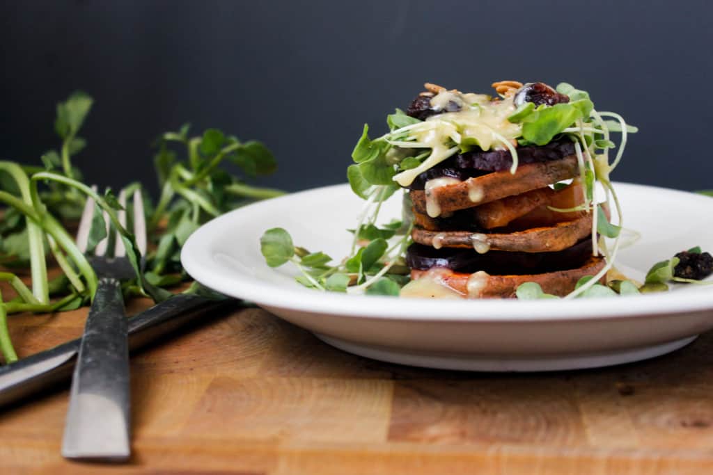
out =
{"type": "MultiPolygon", "coordinates": [[[[615,187],[631,187],[638,192],[665,192],[686,195],[687,199],[700,200],[700,203],[713,206],[713,200],[704,195],[684,192],[677,189],[655,187],[645,184],[615,182],[615,187]],[[707,202],[706,200],[711,200],[707,202]]],[[[242,298],[257,303],[259,306],[279,308],[291,311],[309,312],[322,315],[339,315],[354,318],[377,318],[395,320],[434,320],[451,322],[523,322],[523,321],[563,321],[563,320],[600,320],[607,318],[636,318],[645,315],[663,315],[671,313],[691,313],[713,310],[713,293],[665,293],[643,296],[622,296],[611,299],[588,299],[590,305],[583,305],[583,300],[570,301],[518,301],[515,299],[483,299],[452,301],[426,298],[398,298],[386,296],[356,296],[344,293],[328,293],[309,288],[282,288],[265,281],[245,276],[243,273],[216,271],[210,268],[212,257],[210,237],[215,230],[227,224],[240,222],[240,215],[255,212],[261,207],[276,207],[283,202],[292,202],[312,194],[334,192],[349,189],[349,184],[333,184],[325,187],[306,189],[287,194],[283,197],[263,200],[241,207],[200,226],[190,235],[181,251],[181,263],[196,281],[225,293],[227,296],[242,298]],[[230,281],[230,282],[228,282],[230,281]],[[271,293],[279,291],[279,299],[270,298],[271,293]],[[622,305],[637,301],[640,305],[622,305]],[[385,305],[385,303],[399,303],[385,305]],[[348,304],[348,305],[347,305],[348,304]],[[442,316],[441,316],[442,315],[442,316]]],[[[217,233],[220,234],[220,233],[217,233]]],[[[266,265],[267,266],[267,265],[266,265]]]]}

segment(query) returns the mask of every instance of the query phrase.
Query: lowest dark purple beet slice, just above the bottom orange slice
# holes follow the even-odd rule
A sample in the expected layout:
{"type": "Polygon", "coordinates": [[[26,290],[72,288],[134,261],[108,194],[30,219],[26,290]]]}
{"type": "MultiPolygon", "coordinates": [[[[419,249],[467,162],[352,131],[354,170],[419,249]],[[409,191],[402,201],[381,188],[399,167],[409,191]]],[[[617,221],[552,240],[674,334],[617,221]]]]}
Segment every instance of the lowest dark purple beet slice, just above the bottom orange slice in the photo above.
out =
{"type": "Polygon", "coordinates": [[[478,254],[473,249],[434,249],[423,244],[411,244],[406,251],[406,265],[421,271],[445,267],[466,273],[485,271],[491,275],[521,275],[577,268],[591,255],[592,242],[589,239],[583,239],[563,251],[536,253],[488,251],[478,254]]]}

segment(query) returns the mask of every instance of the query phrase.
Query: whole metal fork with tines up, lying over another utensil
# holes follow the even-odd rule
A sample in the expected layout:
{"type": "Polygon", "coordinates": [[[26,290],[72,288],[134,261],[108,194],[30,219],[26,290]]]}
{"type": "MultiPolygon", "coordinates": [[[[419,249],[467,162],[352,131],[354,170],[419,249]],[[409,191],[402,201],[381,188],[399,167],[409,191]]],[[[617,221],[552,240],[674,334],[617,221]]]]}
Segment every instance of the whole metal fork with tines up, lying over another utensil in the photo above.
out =
{"type": "MultiPolygon", "coordinates": [[[[119,194],[119,203],[125,208],[124,192],[119,194]]],[[[88,198],[77,231],[77,246],[85,254],[94,208],[94,200],[88,198]]],[[[146,224],[138,190],[133,194],[133,215],[134,234],[143,255],[146,224]]],[[[125,227],[125,210],[118,212],[118,219],[125,227]]],[[[114,255],[107,255],[110,221],[106,212],[104,220],[107,237],[97,244],[90,259],[99,285],[74,369],[62,455],[69,459],[123,461],[131,449],[127,319],[120,281],[133,278],[135,271],[118,233],[114,255]]]]}

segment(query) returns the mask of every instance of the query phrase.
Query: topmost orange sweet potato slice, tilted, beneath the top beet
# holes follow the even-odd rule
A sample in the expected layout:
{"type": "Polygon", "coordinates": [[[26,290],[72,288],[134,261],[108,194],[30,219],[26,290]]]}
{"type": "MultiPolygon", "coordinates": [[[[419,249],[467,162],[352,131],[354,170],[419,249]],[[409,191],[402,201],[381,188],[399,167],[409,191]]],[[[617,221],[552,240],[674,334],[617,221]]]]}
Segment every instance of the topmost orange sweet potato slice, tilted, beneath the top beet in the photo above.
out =
{"type": "Polygon", "coordinates": [[[546,187],[578,174],[577,157],[569,155],[560,160],[530,163],[509,171],[493,172],[463,182],[446,184],[425,190],[411,190],[416,209],[424,209],[435,218],[443,213],[468,209],[505,197],[546,187]]]}

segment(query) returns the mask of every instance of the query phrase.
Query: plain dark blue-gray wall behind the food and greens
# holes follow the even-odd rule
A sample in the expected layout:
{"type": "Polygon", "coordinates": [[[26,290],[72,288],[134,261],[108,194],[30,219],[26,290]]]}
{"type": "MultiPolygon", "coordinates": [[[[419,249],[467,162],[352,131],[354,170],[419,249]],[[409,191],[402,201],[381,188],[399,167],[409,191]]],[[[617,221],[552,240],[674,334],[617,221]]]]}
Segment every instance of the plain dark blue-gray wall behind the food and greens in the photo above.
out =
{"type": "Polygon", "coordinates": [[[54,107],[96,105],[76,160],[91,182],[153,182],[150,143],[192,122],[277,156],[263,184],[345,181],[364,122],[385,130],[425,81],[566,80],[640,127],[615,178],[713,188],[704,2],[0,1],[0,158],[56,147],[54,107]]]}

